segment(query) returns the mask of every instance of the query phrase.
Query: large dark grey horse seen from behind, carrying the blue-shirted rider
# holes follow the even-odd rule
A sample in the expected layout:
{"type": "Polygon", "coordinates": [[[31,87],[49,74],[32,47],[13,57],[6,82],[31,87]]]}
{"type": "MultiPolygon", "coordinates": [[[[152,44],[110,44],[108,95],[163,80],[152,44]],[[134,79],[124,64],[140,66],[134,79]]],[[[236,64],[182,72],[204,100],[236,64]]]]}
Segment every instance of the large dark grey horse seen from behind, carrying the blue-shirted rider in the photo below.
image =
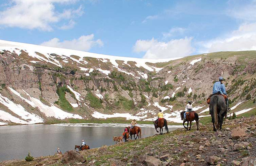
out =
{"type": "Polygon", "coordinates": [[[216,127],[221,130],[223,118],[227,115],[226,101],[223,95],[211,96],[210,114],[212,116],[213,131],[217,131],[216,127]]]}

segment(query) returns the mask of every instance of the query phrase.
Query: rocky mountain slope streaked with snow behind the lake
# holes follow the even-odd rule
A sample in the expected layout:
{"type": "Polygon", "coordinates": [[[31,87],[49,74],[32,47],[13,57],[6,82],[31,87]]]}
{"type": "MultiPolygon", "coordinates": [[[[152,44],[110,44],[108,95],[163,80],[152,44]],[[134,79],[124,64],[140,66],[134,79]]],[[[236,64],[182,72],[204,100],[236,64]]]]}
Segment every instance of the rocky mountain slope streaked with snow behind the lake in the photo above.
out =
{"type": "Polygon", "coordinates": [[[116,117],[151,121],[159,109],[179,123],[188,100],[207,121],[205,99],[220,75],[232,111],[256,111],[256,51],[155,60],[0,40],[0,59],[0,125],[116,117]]]}

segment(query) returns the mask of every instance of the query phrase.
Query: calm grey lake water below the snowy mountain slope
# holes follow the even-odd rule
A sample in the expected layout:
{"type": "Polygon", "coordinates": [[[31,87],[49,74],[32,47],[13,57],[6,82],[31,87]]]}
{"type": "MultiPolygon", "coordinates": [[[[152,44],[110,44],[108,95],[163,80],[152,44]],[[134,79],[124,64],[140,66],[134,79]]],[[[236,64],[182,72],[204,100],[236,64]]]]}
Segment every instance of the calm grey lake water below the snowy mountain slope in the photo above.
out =
{"type": "MultiPolygon", "coordinates": [[[[0,161],[54,155],[74,149],[84,139],[90,148],[114,145],[113,136],[122,136],[127,124],[35,124],[0,127],[0,161]]],[[[142,138],[156,134],[153,125],[139,124],[142,138]]],[[[169,131],[180,126],[168,126],[169,131]]],[[[159,129],[158,129],[159,131],[159,129]]],[[[165,132],[165,131],[164,131],[165,132]]]]}

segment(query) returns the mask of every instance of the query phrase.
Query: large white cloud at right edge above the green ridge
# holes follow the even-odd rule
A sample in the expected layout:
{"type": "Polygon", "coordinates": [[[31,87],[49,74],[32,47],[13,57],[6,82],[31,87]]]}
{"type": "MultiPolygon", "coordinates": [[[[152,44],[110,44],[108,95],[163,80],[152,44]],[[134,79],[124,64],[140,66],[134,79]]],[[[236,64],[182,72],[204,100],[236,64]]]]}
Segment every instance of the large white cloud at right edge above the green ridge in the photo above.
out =
{"type": "Polygon", "coordinates": [[[225,37],[200,44],[200,52],[256,50],[256,23],[243,24],[225,37]]]}

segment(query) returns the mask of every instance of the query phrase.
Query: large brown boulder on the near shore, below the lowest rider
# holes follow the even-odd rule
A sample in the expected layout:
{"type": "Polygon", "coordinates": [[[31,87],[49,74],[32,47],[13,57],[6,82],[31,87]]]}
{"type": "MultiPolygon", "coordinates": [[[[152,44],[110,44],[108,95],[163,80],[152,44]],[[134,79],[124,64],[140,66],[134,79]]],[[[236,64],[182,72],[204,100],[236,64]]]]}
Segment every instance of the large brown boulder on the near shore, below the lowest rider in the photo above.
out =
{"type": "Polygon", "coordinates": [[[76,150],[69,150],[62,156],[61,162],[63,164],[73,164],[77,162],[85,162],[83,155],[76,150]]]}

